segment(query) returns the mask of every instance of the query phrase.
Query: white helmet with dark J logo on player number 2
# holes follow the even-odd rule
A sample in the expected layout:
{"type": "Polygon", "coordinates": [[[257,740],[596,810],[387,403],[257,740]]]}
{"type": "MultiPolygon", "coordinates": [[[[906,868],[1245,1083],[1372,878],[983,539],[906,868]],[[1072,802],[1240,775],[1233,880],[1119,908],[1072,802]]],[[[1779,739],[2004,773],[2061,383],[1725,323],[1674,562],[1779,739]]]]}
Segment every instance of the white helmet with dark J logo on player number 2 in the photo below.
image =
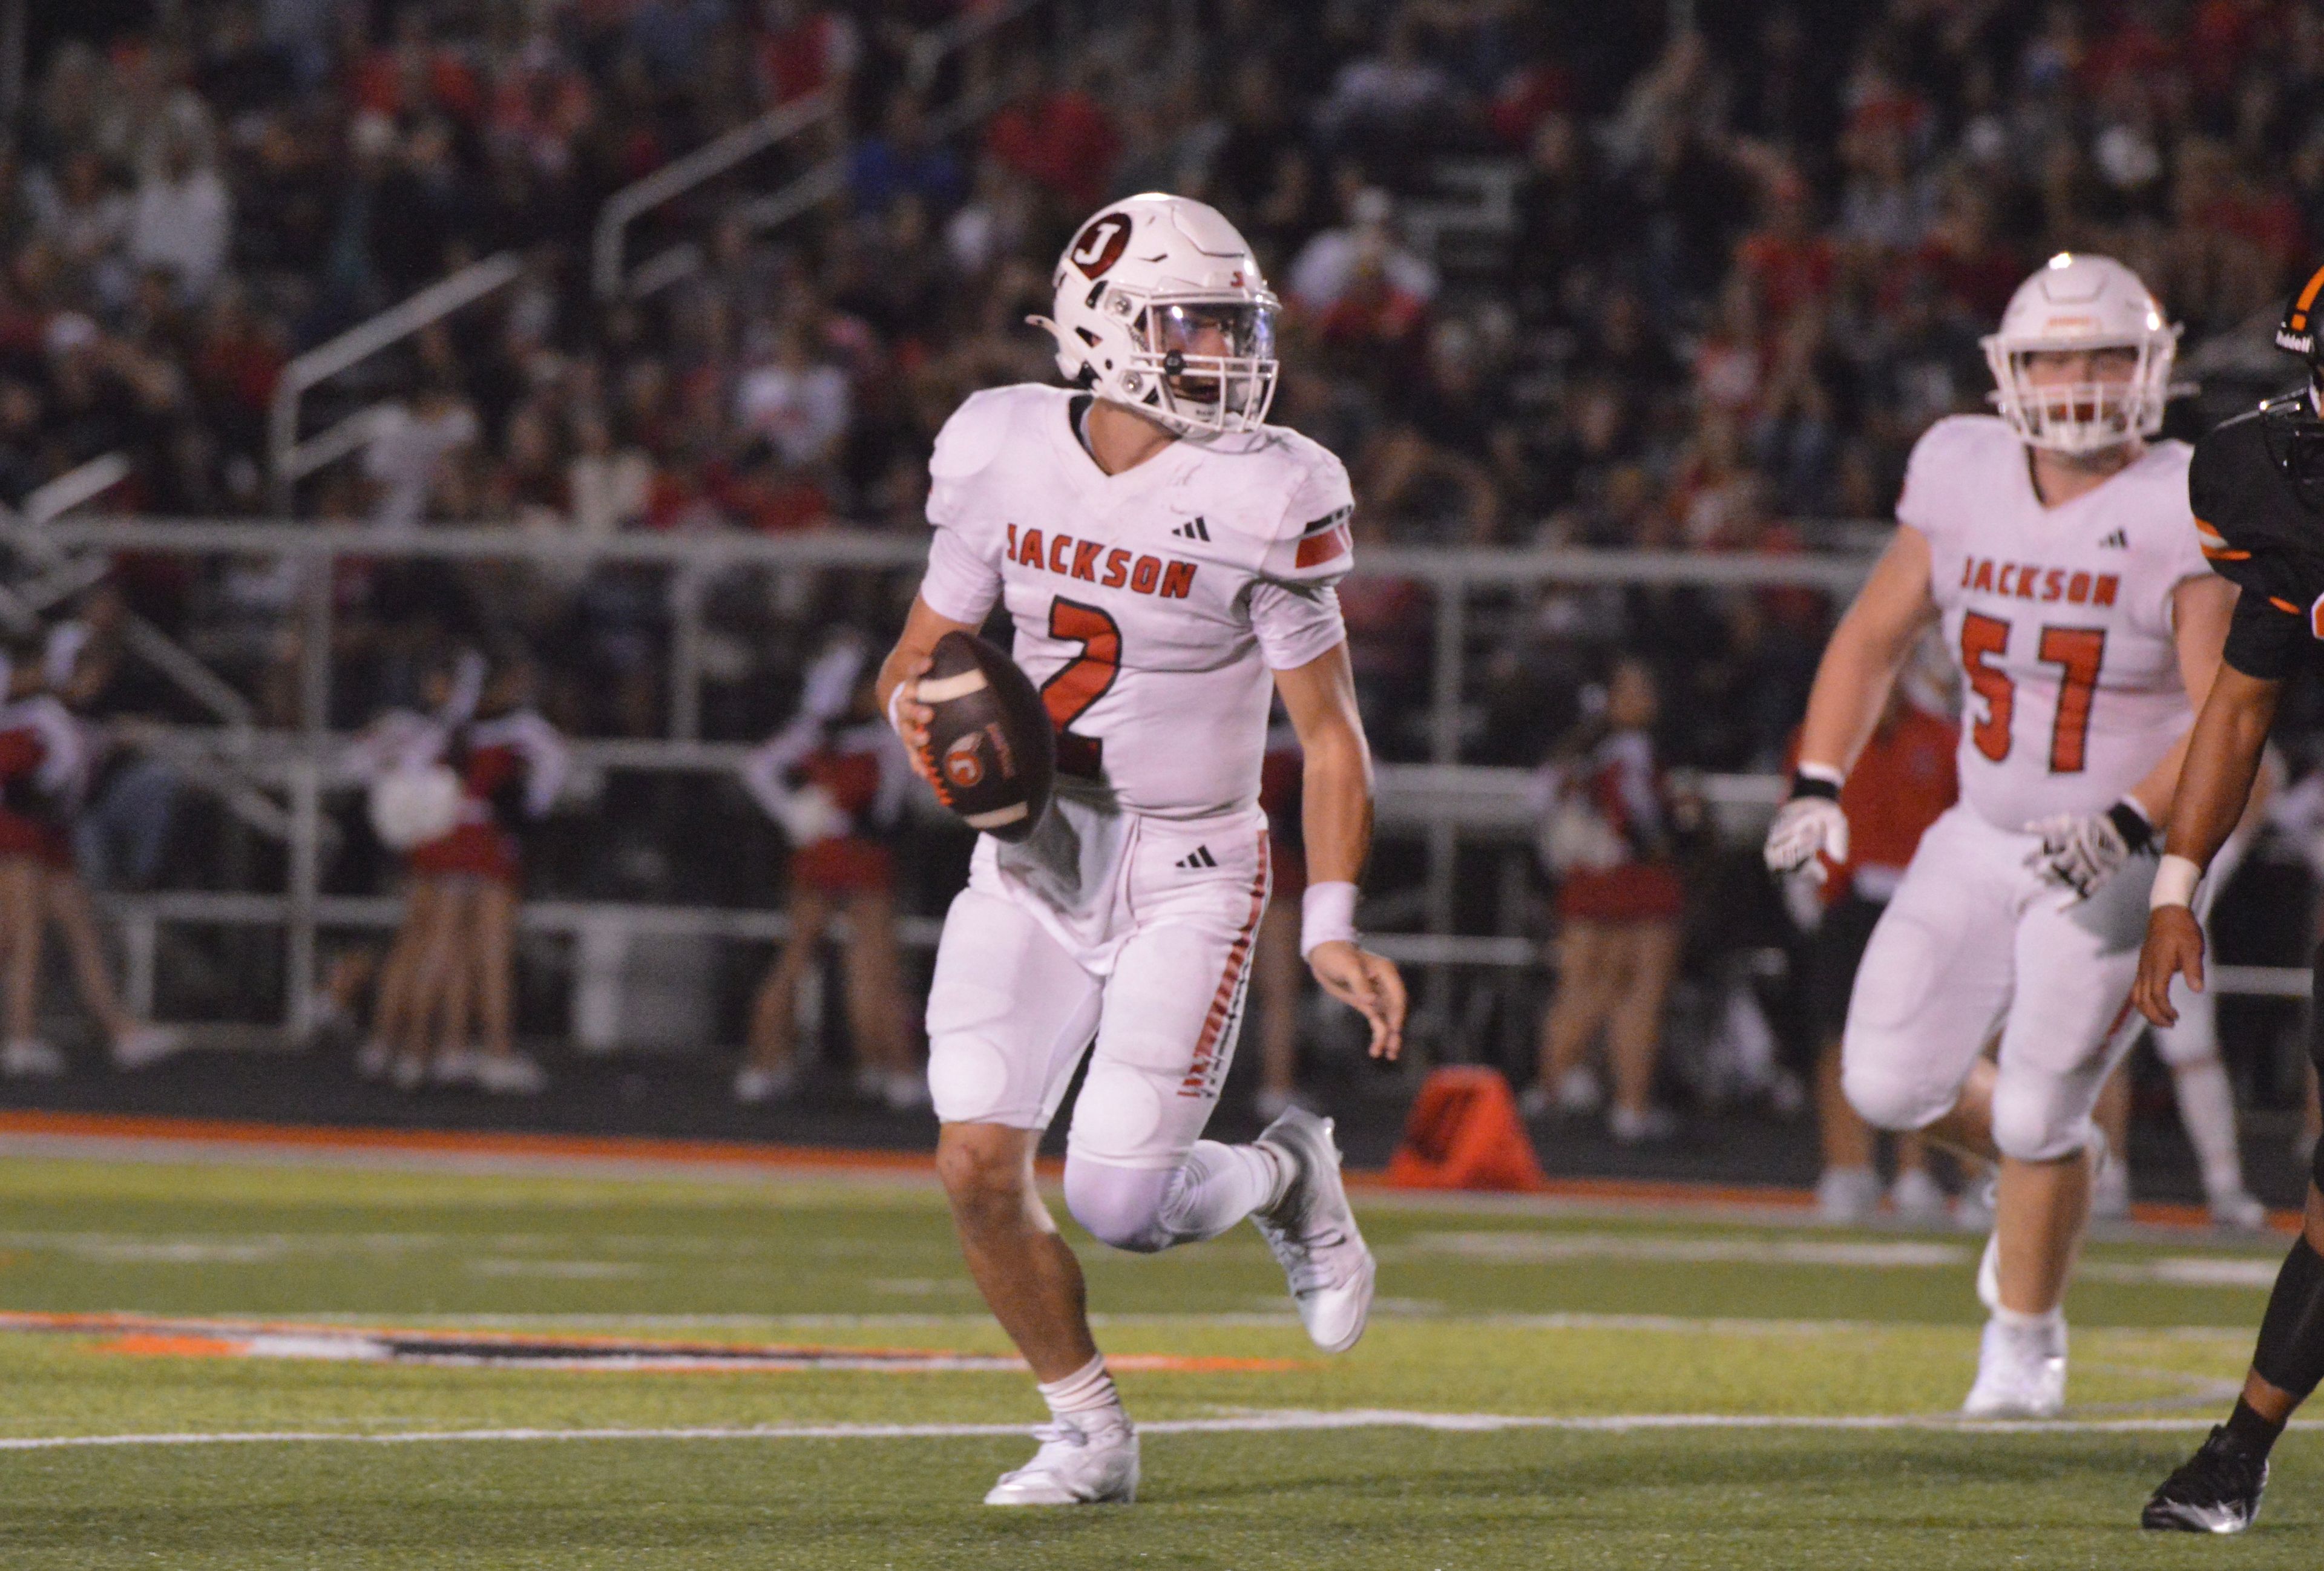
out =
{"type": "Polygon", "coordinates": [[[1057,370],[1183,437],[1253,430],[1276,397],[1276,311],[1225,214],[1146,193],[1109,202],[1057,258],[1057,370]]]}

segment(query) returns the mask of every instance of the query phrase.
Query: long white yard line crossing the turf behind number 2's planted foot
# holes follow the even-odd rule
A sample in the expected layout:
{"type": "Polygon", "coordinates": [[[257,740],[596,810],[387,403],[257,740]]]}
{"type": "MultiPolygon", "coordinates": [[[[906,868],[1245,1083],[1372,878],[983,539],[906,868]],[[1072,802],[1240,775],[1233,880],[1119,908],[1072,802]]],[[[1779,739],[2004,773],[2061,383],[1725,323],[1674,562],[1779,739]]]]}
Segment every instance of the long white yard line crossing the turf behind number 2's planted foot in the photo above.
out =
{"type": "MultiPolygon", "coordinates": [[[[1418,1413],[1406,1408],[1260,1411],[1232,1418],[1164,1418],[1141,1434],[1285,1434],[1318,1429],[1429,1429],[1439,1434],[1501,1434],[1550,1429],[1569,1434],[1638,1434],[1657,1429],[1801,1429],[1801,1432],[1922,1432],[1922,1434],[2196,1434],[2208,1418],[2094,1418],[2094,1420],[1961,1420],[1941,1413],[1880,1413],[1862,1418],[1776,1413],[1418,1413]]],[[[337,1434],[328,1429],[258,1429],[214,1434],[42,1434],[0,1436],[0,1450],[70,1450],[91,1446],[437,1446],[530,1441],[957,1441],[1023,1436],[1025,1425],[753,1425],[709,1429],[421,1429],[402,1434],[337,1434]]]]}

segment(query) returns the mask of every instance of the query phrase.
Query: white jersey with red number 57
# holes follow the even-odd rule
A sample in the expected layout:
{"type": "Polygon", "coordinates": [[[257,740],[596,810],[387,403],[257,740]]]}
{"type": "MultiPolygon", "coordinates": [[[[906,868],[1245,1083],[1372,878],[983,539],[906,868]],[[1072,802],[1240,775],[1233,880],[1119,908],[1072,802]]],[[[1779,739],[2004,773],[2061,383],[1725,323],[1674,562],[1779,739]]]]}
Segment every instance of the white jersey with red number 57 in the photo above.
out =
{"type": "Polygon", "coordinates": [[[2185,442],[2043,507],[2017,435],[1952,416],[1913,446],[1896,521],[1961,665],[1961,799],[1999,830],[2113,806],[2194,723],[2171,595],[2210,572],[2185,442]]]}

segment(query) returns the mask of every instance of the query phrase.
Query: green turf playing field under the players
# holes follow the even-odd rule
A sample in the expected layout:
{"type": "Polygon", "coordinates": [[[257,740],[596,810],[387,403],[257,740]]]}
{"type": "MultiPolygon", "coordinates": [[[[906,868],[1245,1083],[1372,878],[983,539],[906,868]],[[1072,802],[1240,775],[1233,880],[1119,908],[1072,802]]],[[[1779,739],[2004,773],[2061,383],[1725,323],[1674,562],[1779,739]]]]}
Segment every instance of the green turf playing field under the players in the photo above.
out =
{"type": "Polygon", "coordinates": [[[1383,1297],[1336,1360],[1250,1232],[1088,1248],[1109,1353],[1192,1366],[1120,1376],[1136,1506],[1004,1513],[978,1497],[1041,1418],[1016,1371],[407,1366],[323,1334],[990,1364],[923,1183],[0,1160],[0,1311],[165,1322],[0,1329],[0,1566],[2317,1562],[2308,1432],[2250,1536],[2136,1529],[2224,1411],[2278,1243],[2094,1246],[2073,1420],[1964,1432],[1978,1239],[1362,1206],[1383,1297]],[[277,1357],[191,1355],[237,1346],[277,1357]],[[70,1436],[174,1443],[28,1443],[70,1436]]]}

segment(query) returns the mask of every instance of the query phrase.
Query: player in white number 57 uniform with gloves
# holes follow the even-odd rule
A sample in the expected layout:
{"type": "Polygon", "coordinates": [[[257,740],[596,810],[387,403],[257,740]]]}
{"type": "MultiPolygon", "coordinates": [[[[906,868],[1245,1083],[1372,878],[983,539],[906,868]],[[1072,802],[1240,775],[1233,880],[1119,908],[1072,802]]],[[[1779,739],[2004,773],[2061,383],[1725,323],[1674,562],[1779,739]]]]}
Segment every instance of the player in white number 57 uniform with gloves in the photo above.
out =
{"type": "Polygon", "coordinates": [[[1985,339],[2001,418],[1922,435],[1896,535],[1815,674],[1766,862],[1848,860],[1838,788],[1913,639],[1966,683],[1961,799],[1929,825],[1848,1002],[1841,1083],[1880,1129],[2001,1167],[1978,1271],[1992,1318],[1964,1413],[2066,1401],[2066,1278],[2131,1046],[2154,825],[2219,667],[2233,588],[2187,509],[2187,446],[2147,442],[2178,332],[2103,256],[2057,256],[1985,339]],[[1985,1046],[1999,1032],[1999,1055],[1985,1046]]]}

